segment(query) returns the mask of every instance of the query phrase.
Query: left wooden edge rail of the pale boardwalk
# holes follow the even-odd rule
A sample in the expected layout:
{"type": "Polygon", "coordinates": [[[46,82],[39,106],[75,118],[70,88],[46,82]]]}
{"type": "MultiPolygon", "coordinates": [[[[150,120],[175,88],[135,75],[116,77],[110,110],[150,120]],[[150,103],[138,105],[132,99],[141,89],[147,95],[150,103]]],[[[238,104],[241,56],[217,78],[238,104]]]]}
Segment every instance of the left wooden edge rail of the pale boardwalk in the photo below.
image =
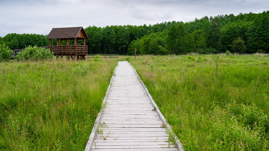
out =
{"type": "MultiPolygon", "coordinates": [[[[116,65],[115,70],[114,70],[114,72],[113,72],[113,74],[112,74],[112,77],[111,77],[111,79],[110,79],[108,88],[107,88],[107,90],[106,90],[106,95],[104,96],[104,99],[103,99],[102,104],[105,104],[105,103],[106,103],[107,96],[108,96],[108,93],[109,93],[109,90],[110,90],[110,86],[111,86],[111,83],[112,83],[112,81],[113,81],[113,78],[115,77],[115,71],[116,71],[117,67],[118,67],[118,64],[116,65]]],[[[90,149],[91,149],[92,142],[93,142],[94,137],[95,137],[95,135],[96,135],[96,131],[97,131],[97,128],[98,128],[98,125],[99,125],[99,122],[100,122],[100,118],[101,118],[101,116],[102,116],[102,114],[103,114],[103,109],[104,109],[104,108],[105,108],[105,106],[103,106],[103,108],[100,110],[100,112],[98,113],[98,115],[97,115],[97,117],[96,117],[96,120],[95,120],[95,122],[94,122],[94,126],[93,126],[93,128],[92,128],[92,132],[91,132],[91,134],[90,134],[90,137],[89,137],[89,139],[88,139],[88,142],[87,142],[87,144],[86,144],[86,147],[85,147],[84,151],[90,151],[90,149]]]]}

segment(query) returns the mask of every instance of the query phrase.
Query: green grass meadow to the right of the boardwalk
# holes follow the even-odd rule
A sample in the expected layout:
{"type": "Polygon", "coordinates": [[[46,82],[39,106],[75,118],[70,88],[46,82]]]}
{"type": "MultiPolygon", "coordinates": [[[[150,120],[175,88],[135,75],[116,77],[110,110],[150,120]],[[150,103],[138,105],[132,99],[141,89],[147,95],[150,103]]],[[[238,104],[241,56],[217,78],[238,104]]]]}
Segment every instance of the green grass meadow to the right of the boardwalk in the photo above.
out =
{"type": "Polygon", "coordinates": [[[128,60],[186,151],[269,150],[269,55],[128,60]]]}

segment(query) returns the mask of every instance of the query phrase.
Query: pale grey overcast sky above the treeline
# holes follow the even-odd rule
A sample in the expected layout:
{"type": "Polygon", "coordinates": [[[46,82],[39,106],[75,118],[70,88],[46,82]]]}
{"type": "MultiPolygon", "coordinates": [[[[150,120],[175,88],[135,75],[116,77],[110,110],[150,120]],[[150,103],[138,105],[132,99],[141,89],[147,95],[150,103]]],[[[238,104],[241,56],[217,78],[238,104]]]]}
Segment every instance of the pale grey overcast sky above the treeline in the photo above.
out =
{"type": "Polygon", "coordinates": [[[47,35],[59,27],[188,22],[205,15],[266,10],[269,0],[0,0],[0,36],[47,35]]]}

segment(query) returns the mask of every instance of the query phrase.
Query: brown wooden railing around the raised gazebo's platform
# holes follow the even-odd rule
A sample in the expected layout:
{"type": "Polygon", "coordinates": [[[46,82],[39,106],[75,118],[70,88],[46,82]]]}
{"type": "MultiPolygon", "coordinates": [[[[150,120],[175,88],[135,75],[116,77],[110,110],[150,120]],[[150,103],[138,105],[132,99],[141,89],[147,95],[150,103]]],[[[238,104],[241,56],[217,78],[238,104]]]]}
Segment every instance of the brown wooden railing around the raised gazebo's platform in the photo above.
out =
{"type": "Polygon", "coordinates": [[[88,45],[52,45],[49,46],[54,55],[87,55],[88,45]]]}

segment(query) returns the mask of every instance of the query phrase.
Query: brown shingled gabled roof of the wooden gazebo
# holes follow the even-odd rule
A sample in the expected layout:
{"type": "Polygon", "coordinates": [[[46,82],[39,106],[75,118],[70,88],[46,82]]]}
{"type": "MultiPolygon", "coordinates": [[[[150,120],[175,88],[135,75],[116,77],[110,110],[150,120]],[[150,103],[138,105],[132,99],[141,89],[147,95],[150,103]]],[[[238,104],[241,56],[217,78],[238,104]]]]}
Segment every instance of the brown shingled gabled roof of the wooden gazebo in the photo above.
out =
{"type": "Polygon", "coordinates": [[[84,35],[83,38],[89,39],[83,27],[52,28],[46,39],[82,38],[80,33],[84,35]]]}

